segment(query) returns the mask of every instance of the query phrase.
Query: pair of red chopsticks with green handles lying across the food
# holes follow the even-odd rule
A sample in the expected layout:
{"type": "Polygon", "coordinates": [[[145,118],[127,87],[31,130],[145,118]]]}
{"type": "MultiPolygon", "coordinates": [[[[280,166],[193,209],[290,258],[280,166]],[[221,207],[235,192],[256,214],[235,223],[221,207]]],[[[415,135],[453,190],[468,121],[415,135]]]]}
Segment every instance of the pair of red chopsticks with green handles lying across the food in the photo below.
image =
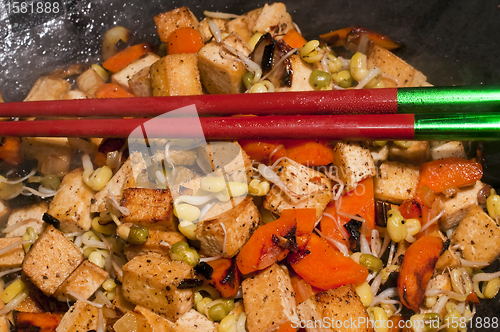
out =
{"type": "Polygon", "coordinates": [[[0,104],[0,136],[217,139],[500,139],[500,88],[425,87],[0,104]],[[194,105],[200,117],[159,117],[194,105]],[[499,113],[496,113],[496,112],[499,113]],[[233,115],[261,115],[233,117],[233,115]],[[206,116],[217,117],[206,117],[206,116]],[[105,118],[103,118],[105,117],[105,118]],[[122,117],[146,117],[123,119],[122,117]],[[154,119],[151,119],[156,117],[154,119]],[[201,128],[201,129],[200,129],[201,128]]]}

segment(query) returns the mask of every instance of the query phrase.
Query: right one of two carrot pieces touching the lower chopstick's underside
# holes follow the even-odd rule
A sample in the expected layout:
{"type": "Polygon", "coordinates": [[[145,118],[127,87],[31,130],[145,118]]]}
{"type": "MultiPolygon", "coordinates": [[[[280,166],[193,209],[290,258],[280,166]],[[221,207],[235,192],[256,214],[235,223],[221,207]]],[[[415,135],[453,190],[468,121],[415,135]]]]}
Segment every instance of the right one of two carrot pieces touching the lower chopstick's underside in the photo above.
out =
{"type": "Polygon", "coordinates": [[[333,150],[326,141],[287,140],[288,158],[305,166],[324,166],[333,163],[333,150]]]}

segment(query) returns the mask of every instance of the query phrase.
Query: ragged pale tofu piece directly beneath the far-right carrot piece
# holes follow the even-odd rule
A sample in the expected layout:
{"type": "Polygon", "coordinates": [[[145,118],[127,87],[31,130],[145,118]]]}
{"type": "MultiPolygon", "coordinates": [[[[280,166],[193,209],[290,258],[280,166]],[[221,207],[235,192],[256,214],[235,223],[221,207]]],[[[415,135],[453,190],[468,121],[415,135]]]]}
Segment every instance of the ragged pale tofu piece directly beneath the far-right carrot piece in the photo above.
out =
{"type": "Polygon", "coordinates": [[[484,183],[477,181],[473,186],[460,188],[452,197],[442,196],[444,213],[439,218],[441,228],[446,230],[456,227],[471,207],[479,205],[477,196],[484,186],[484,183]]]}

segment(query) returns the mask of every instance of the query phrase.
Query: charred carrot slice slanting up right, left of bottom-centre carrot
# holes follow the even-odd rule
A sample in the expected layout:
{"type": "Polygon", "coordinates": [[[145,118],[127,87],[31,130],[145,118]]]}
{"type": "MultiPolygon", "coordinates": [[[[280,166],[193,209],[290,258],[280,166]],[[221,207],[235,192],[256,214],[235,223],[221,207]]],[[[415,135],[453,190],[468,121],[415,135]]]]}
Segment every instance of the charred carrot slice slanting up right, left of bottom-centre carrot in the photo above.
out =
{"type": "Polygon", "coordinates": [[[286,257],[289,250],[278,246],[276,240],[293,236],[297,227],[297,211],[283,210],[279,219],[257,228],[236,258],[238,269],[248,274],[271,266],[286,257]]]}

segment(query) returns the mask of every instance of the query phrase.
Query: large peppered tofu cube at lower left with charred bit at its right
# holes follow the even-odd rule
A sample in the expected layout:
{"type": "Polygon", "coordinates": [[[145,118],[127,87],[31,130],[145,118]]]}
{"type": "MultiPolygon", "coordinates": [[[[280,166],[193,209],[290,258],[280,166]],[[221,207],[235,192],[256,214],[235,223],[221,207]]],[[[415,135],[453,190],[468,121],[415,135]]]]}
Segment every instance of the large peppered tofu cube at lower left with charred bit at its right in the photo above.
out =
{"type": "Polygon", "coordinates": [[[193,306],[193,291],[177,286],[193,277],[193,268],[184,262],[154,252],[140,255],[123,266],[123,295],[175,322],[193,306]]]}

